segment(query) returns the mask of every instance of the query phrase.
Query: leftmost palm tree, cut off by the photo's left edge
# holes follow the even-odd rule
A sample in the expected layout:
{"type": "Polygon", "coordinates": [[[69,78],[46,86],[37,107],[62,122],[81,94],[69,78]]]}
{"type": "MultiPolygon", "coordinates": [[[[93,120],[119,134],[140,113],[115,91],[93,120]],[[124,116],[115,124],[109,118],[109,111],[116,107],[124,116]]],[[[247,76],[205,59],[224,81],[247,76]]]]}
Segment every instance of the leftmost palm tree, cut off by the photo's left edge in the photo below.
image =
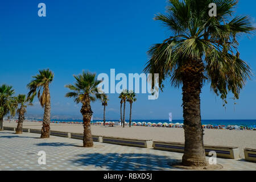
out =
{"type": "Polygon", "coordinates": [[[0,130],[3,130],[3,117],[8,113],[15,115],[17,104],[13,95],[12,86],[5,84],[0,86],[0,130]]]}

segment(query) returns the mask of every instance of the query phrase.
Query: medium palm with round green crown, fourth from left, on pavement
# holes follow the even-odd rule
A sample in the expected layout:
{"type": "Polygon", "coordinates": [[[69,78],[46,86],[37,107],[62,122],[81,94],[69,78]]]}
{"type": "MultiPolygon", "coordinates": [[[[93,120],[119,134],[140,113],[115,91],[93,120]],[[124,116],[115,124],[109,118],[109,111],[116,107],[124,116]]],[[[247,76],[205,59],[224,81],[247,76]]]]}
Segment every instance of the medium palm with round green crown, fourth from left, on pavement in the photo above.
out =
{"type": "Polygon", "coordinates": [[[84,147],[93,147],[92,131],[90,129],[90,119],[93,111],[90,107],[90,102],[100,99],[97,86],[101,83],[96,79],[96,74],[90,72],[82,72],[81,75],[74,76],[76,83],[74,85],[65,85],[66,88],[72,90],[68,92],[65,97],[73,97],[74,101],[79,104],[82,103],[80,110],[83,117],[84,125],[84,147]]]}

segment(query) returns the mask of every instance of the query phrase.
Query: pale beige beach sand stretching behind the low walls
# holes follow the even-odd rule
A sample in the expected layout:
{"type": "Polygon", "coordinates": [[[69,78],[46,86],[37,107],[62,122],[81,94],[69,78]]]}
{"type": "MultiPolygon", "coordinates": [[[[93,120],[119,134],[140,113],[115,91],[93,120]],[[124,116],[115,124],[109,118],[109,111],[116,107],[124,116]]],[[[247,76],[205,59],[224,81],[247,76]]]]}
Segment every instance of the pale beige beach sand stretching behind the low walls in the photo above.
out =
{"type": "MultiPolygon", "coordinates": [[[[3,126],[16,127],[15,122],[3,123],[3,126]]],[[[23,127],[27,129],[41,129],[42,123],[38,122],[24,122],[23,127]]],[[[56,124],[51,123],[51,130],[65,131],[71,133],[83,133],[84,129],[81,124],[56,124]]],[[[244,156],[243,148],[256,148],[256,131],[250,130],[214,130],[205,129],[204,144],[218,145],[218,146],[236,146],[240,148],[241,158],[244,156]]],[[[132,126],[128,127],[104,127],[93,126],[92,134],[105,137],[121,137],[131,139],[152,139],[163,142],[183,142],[184,130],[177,128],[163,128],[163,127],[143,127],[132,126]]]]}

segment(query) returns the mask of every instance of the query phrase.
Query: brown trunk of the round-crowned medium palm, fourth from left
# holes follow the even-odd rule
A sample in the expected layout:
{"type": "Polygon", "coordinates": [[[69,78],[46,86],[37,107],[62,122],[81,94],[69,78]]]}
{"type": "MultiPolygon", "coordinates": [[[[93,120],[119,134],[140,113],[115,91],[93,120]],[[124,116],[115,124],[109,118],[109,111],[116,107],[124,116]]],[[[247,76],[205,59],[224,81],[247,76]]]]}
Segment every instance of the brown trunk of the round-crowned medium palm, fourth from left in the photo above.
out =
{"type": "Polygon", "coordinates": [[[80,110],[82,113],[82,120],[84,126],[84,138],[83,138],[83,146],[84,147],[93,147],[93,138],[92,138],[92,130],[90,128],[90,119],[92,118],[93,111],[90,107],[90,99],[89,97],[85,98],[85,101],[82,104],[82,109],[80,110]]]}

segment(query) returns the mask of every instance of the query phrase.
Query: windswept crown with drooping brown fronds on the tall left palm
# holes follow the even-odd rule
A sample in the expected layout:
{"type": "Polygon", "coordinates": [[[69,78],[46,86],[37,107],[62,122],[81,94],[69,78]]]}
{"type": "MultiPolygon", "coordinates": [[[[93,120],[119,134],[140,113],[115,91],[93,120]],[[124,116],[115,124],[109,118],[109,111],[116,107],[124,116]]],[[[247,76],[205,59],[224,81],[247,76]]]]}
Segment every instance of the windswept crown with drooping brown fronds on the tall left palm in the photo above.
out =
{"type": "Polygon", "coordinates": [[[30,92],[28,92],[28,98],[32,102],[36,94],[38,94],[38,100],[42,107],[50,101],[50,95],[48,92],[49,84],[53,81],[54,74],[49,69],[39,70],[39,74],[32,76],[34,78],[27,85],[30,92]],[[42,92],[42,93],[41,93],[42,92]]]}

